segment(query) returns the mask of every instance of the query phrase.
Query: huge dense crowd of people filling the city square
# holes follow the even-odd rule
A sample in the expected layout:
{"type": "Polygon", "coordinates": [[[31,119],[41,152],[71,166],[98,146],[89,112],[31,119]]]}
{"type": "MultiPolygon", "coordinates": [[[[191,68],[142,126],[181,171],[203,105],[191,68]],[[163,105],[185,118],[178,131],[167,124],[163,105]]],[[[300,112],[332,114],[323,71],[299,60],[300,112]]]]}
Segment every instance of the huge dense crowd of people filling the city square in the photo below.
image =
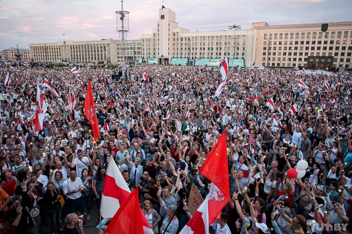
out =
{"type": "Polygon", "coordinates": [[[87,220],[99,221],[113,160],[138,189],[153,232],[176,234],[192,215],[190,185],[203,198],[209,193],[198,171],[224,132],[231,199],[210,232],[352,233],[351,73],[231,67],[214,96],[219,67],[143,63],[113,72],[0,66],[0,233],[37,234],[48,225],[51,233],[84,233],[87,220]],[[41,88],[48,108],[35,132],[36,86],[44,79],[58,95],[41,88]],[[84,113],[88,80],[96,141],[84,113]],[[290,178],[300,160],[305,175],[290,178]]]}

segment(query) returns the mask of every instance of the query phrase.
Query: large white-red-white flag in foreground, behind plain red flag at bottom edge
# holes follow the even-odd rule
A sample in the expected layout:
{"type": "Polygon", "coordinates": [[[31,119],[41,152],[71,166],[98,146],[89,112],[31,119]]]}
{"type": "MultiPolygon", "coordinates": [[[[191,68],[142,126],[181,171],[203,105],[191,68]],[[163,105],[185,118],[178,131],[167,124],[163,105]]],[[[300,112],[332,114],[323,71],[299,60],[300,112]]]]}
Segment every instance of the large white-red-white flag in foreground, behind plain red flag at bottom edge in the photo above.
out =
{"type": "Polygon", "coordinates": [[[109,161],[101,195],[101,216],[104,218],[114,217],[120,205],[130,193],[131,190],[128,188],[115,161],[109,161]]]}

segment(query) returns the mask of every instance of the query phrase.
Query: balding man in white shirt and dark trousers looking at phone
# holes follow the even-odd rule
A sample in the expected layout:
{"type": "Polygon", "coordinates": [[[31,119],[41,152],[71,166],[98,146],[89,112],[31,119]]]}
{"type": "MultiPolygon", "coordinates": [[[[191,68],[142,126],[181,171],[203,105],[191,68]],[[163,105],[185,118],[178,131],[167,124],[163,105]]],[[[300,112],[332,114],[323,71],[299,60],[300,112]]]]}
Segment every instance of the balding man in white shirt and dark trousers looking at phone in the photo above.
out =
{"type": "Polygon", "coordinates": [[[76,212],[78,216],[81,215],[81,210],[84,209],[84,198],[81,195],[83,189],[81,178],[77,176],[75,171],[71,171],[70,178],[63,183],[62,190],[67,196],[70,212],[76,212]]]}

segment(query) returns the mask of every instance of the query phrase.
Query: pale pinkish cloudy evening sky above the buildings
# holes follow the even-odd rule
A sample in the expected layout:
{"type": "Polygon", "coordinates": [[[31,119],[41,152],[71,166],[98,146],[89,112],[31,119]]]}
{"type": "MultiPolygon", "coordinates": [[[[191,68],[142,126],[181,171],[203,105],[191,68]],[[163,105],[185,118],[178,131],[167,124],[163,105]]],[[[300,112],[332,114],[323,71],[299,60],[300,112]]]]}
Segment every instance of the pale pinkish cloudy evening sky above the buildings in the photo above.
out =
{"type": "MultiPolygon", "coordinates": [[[[127,39],[152,33],[162,0],[123,4],[130,12],[127,39]]],[[[352,21],[351,0],[165,0],[164,6],[176,13],[179,27],[192,32],[228,30],[234,24],[249,29],[252,22],[263,21],[269,25],[352,21]]],[[[0,0],[0,50],[64,39],[118,39],[115,11],[120,10],[117,0],[0,0]]]]}

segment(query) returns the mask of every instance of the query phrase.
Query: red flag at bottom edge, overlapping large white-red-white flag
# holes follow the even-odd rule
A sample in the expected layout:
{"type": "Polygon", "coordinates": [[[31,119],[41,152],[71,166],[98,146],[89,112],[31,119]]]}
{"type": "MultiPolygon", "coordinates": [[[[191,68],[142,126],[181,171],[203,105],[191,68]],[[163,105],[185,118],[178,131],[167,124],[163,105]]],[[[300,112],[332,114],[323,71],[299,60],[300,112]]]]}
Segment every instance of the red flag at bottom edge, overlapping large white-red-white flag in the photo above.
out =
{"type": "Polygon", "coordinates": [[[139,206],[138,189],[134,189],[121,204],[109,225],[106,233],[152,234],[153,231],[139,206]]]}

